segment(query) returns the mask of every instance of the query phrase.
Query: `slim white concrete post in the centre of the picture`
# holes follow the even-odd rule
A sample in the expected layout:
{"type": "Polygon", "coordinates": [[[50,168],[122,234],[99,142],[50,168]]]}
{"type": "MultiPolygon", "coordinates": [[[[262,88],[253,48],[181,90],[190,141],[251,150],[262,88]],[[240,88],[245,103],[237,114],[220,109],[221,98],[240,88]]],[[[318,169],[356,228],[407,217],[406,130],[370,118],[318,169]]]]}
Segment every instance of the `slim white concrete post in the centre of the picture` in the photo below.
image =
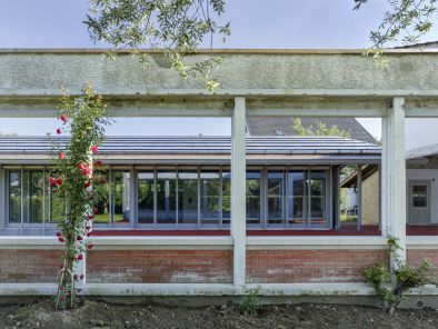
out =
{"type": "Polygon", "coordinates": [[[242,288],[246,279],[246,103],[235,98],[231,118],[231,237],[233,238],[233,285],[242,288]]]}

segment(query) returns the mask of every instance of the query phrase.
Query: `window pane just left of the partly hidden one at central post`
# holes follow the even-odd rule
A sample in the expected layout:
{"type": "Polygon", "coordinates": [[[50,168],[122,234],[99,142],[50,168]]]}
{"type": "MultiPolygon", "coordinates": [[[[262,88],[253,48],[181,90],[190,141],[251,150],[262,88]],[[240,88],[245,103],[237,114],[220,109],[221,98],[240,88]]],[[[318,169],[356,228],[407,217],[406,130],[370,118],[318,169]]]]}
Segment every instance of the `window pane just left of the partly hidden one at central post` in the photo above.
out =
{"type": "Polygon", "coordinates": [[[201,223],[219,223],[220,180],[219,172],[200,173],[201,223]]]}

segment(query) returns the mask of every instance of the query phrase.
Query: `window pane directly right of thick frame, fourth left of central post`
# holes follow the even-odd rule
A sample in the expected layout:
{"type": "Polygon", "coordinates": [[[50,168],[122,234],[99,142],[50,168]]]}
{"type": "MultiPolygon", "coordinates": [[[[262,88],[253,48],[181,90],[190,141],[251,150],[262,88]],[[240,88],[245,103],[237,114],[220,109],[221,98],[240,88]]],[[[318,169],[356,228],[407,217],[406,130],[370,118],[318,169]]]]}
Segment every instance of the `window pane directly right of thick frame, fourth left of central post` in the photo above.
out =
{"type": "Polygon", "coordinates": [[[153,223],[153,172],[138,173],[138,222],[153,223]]]}

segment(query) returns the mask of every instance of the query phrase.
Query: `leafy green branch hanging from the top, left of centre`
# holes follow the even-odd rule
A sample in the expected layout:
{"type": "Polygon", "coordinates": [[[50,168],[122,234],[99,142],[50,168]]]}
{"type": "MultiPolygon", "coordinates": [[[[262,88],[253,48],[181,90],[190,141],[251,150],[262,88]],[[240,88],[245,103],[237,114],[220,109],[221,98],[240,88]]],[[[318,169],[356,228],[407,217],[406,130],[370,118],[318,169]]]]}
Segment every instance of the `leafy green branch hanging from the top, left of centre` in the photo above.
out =
{"type": "Polygon", "coordinates": [[[213,90],[218,82],[212,70],[219,58],[201,60],[188,56],[212,36],[222,40],[230,36],[230,24],[219,23],[225,0],[91,0],[92,7],[84,23],[94,42],[109,43],[117,53],[130,49],[140,62],[149,66],[148,53],[140,49],[163,49],[173,69],[185,79],[200,79],[213,90]]]}

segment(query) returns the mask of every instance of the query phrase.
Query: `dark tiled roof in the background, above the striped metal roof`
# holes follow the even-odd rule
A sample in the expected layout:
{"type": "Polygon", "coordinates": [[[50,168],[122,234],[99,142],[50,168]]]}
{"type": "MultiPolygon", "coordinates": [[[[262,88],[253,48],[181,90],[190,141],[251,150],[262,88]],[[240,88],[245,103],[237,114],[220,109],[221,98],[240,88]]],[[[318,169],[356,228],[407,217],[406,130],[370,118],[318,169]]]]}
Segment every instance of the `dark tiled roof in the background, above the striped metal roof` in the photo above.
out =
{"type": "MultiPolygon", "coordinates": [[[[376,139],[355,118],[300,118],[303,128],[317,128],[318,122],[328,128],[337,126],[350,133],[350,138],[376,143],[376,139]]],[[[247,128],[250,136],[297,136],[289,117],[248,117],[247,128]]]]}

